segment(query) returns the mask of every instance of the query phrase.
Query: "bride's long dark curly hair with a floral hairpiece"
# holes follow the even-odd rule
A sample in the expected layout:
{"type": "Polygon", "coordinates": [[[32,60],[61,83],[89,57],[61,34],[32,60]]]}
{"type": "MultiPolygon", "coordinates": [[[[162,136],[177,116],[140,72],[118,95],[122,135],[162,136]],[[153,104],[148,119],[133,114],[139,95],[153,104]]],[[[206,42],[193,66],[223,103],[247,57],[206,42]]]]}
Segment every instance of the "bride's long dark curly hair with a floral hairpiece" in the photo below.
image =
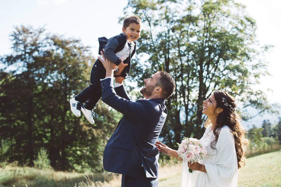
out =
{"type": "MultiPolygon", "coordinates": [[[[241,117],[236,111],[235,99],[225,91],[214,91],[215,100],[217,102],[216,108],[222,108],[223,111],[217,115],[217,125],[213,129],[215,140],[211,142],[211,147],[215,149],[215,144],[219,137],[220,129],[227,125],[234,136],[235,150],[237,155],[238,169],[245,165],[246,148],[248,140],[245,136],[246,130],[241,127],[241,117]]],[[[210,126],[210,119],[205,122],[205,127],[210,126]]]]}

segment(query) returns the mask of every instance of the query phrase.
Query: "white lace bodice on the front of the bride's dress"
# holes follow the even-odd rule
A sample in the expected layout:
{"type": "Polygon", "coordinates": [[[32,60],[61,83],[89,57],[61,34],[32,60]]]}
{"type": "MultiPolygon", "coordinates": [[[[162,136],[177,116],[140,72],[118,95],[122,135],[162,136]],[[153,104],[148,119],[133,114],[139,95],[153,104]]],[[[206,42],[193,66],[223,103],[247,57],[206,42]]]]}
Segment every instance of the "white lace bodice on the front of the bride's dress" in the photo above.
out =
{"type": "Polygon", "coordinates": [[[215,140],[215,135],[213,133],[213,130],[211,130],[211,127],[208,127],[205,130],[205,133],[203,134],[202,138],[200,139],[200,143],[208,151],[204,159],[212,160],[213,156],[216,154],[217,151],[211,148],[211,142],[214,140],[215,140]]]}

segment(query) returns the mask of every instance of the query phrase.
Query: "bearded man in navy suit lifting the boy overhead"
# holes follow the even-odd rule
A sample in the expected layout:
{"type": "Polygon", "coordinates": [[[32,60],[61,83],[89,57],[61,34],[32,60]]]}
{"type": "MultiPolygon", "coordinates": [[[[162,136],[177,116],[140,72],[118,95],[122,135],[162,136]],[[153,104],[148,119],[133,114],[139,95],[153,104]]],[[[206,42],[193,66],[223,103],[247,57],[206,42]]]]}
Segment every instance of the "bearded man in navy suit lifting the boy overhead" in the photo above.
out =
{"type": "Polygon", "coordinates": [[[104,149],[104,169],[122,174],[122,187],[158,186],[155,143],[167,117],[165,99],[174,92],[174,79],[167,72],[156,72],[144,80],[140,93],[145,99],[132,102],[123,84],[114,90],[113,64],[103,53],[102,57],[106,69],[106,78],[100,81],[102,101],[124,115],[104,149]]]}

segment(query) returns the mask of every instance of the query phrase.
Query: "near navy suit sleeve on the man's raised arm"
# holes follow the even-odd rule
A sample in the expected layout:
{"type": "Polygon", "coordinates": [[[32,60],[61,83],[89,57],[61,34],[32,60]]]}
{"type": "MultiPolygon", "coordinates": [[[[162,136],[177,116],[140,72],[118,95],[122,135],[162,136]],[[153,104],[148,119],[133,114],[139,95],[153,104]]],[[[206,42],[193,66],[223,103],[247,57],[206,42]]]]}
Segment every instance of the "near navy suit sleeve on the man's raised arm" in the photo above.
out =
{"type": "Polygon", "coordinates": [[[132,102],[117,96],[111,79],[104,79],[100,81],[100,84],[102,101],[128,118],[137,122],[144,122],[145,119],[148,119],[148,116],[152,115],[153,107],[149,102],[144,105],[142,102],[132,102]]]}

